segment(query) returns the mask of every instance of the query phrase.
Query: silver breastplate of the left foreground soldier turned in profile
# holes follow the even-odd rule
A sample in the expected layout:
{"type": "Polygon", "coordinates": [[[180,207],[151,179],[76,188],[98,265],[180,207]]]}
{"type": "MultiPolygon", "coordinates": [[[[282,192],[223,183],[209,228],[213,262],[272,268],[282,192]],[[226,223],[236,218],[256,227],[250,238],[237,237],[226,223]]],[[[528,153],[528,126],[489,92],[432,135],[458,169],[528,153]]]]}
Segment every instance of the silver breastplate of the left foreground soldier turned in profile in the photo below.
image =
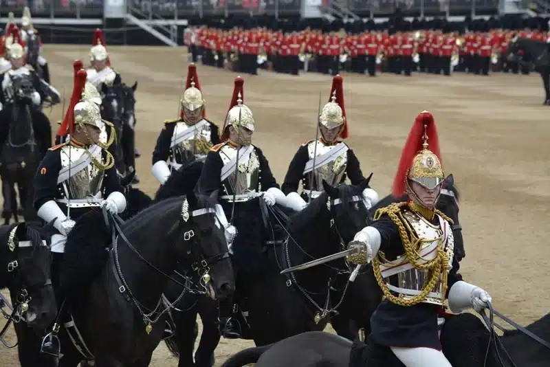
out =
{"type": "MultiPolygon", "coordinates": [[[[69,164],[75,164],[81,157],[87,155],[87,149],[76,146],[63,146],[61,148],[61,167],[65,168],[69,164]]],[[[101,161],[101,150],[96,151],[96,159],[101,161]]],[[[72,173],[71,173],[72,174],[72,173]]],[[[68,199],[89,199],[95,197],[101,198],[104,170],[100,170],[93,163],[89,163],[78,173],[69,177],[61,183],[68,199]]]]}

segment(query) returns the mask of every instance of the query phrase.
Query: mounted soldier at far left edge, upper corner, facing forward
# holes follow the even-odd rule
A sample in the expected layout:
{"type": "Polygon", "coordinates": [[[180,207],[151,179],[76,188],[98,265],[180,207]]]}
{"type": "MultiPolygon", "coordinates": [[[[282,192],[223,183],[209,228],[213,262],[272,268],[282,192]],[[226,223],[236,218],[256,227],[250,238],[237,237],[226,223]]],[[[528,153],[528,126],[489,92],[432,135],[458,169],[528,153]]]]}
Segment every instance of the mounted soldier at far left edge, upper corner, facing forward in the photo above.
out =
{"type": "Polygon", "coordinates": [[[12,64],[12,68],[3,74],[2,78],[2,94],[3,103],[10,103],[13,100],[12,80],[19,76],[30,76],[34,89],[36,89],[32,97],[34,109],[41,110],[43,102],[49,102],[50,105],[61,102],[61,94],[50,84],[42,80],[36,71],[26,63],[25,59],[25,43],[21,41],[21,35],[17,27],[12,27],[12,32],[6,38],[5,45],[8,60],[12,64]]]}

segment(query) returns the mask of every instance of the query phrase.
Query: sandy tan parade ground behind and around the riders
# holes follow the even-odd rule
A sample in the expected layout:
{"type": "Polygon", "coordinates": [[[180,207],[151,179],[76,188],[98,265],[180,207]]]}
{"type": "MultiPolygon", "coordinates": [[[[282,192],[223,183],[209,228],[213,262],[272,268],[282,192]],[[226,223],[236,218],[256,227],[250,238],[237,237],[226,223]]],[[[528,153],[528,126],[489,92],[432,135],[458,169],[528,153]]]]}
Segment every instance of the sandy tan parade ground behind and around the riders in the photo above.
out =
{"type": "MultiPolygon", "coordinates": [[[[137,186],[153,195],[151,153],[165,119],[177,117],[187,56],[183,47],[109,47],[111,62],[136,92],[137,186]]],[[[52,83],[68,100],[72,62],[87,61],[89,47],[45,45],[52,83]]],[[[207,118],[223,125],[237,74],[198,67],[207,118]]],[[[420,111],[434,114],[445,173],[461,190],[460,219],[467,256],[465,280],[491,294],[495,308],[520,324],[550,311],[547,289],[550,235],[550,107],[543,107],[540,77],[498,74],[451,77],[415,74],[376,78],[343,74],[351,137],[348,144],[371,186],[385,196],[412,122],[420,111]]],[[[331,77],[287,76],[261,71],[246,76],[245,104],[256,120],[253,142],[265,153],[282,183],[290,159],[315,137],[319,92],[329,97],[331,77]]],[[[46,110],[52,125],[61,120],[61,104],[46,110]]],[[[13,337],[12,334],[10,334],[13,337]]],[[[13,339],[12,339],[13,340],[13,339]]],[[[217,366],[253,344],[221,340],[217,366]]],[[[17,366],[17,354],[0,346],[0,366],[17,366]]],[[[151,366],[177,366],[161,344],[151,366]]]]}

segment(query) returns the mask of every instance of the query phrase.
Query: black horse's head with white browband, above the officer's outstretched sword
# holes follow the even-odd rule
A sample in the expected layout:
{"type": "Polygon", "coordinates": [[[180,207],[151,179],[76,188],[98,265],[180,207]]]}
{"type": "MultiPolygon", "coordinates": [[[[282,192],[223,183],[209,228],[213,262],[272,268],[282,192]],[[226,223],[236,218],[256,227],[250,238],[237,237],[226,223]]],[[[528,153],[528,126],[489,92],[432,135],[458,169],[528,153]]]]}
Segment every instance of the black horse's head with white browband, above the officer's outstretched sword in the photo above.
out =
{"type": "Polygon", "coordinates": [[[331,186],[327,181],[322,181],[322,186],[329,195],[334,225],[344,243],[349,243],[369,223],[369,210],[363,198],[363,190],[369,187],[371,177],[372,175],[358,186],[344,183],[331,186]]]}

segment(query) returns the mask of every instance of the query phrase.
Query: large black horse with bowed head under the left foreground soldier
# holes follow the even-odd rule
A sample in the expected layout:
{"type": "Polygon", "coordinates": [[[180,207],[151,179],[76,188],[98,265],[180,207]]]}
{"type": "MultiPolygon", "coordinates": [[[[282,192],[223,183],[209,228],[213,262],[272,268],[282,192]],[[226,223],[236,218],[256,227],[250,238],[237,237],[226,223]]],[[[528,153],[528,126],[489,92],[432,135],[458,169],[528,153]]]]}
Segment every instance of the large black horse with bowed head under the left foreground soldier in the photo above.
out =
{"type": "MultiPolygon", "coordinates": [[[[165,306],[162,291],[177,265],[195,269],[212,298],[223,299],[232,293],[232,266],[214,209],[215,196],[190,192],[133,216],[117,228],[118,236],[98,276],[68,296],[72,317],[96,366],[148,366],[171,307],[165,306]]],[[[81,236],[94,238],[96,243],[109,241],[109,234],[98,231],[98,220],[102,220],[101,212],[89,212],[69,233],[67,269],[79,267],[77,258],[87,261],[87,254],[77,254],[81,236]]],[[[60,336],[60,366],[76,366],[84,356],[72,348],[66,330],[60,336]]]]}

